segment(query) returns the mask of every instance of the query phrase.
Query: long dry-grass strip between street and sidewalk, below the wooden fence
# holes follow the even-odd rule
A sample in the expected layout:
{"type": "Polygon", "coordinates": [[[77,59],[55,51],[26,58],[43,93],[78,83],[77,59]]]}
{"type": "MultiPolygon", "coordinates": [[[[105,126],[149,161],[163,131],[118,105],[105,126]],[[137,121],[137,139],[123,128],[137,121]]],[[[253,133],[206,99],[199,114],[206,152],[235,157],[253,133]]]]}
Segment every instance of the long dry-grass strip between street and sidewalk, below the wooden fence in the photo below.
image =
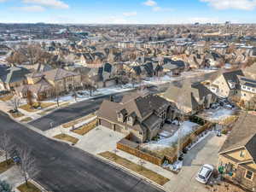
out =
{"type": "Polygon", "coordinates": [[[125,166],[125,168],[130,169],[132,172],[137,172],[138,174],[142,175],[143,177],[146,177],[149,180],[154,181],[154,183],[164,185],[165,183],[170,181],[168,178],[163,177],[160,174],[145,168],[144,166],[137,165],[137,164],[131,162],[130,160],[126,160],[125,158],[122,158],[119,155],[113,154],[109,151],[103,152],[99,155],[119,164],[120,166],[125,166]]]}

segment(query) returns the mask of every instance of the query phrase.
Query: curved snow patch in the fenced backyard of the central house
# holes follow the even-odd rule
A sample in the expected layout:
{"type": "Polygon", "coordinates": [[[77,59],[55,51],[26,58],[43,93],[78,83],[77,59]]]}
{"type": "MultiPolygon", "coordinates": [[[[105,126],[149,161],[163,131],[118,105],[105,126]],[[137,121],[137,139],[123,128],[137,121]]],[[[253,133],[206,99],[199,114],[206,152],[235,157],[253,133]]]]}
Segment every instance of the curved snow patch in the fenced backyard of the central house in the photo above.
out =
{"type": "Polygon", "coordinates": [[[186,137],[190,133],[195,131],[198,128],[198,126],[199,126],[198,124],[195,124],[193,122],[184,121],[183,124],[180,125],[179,130],[176,131],[172,137],[160,138],[158,141],[145,143],[142,145],[142,147],[150,150],[157,150],[157,149],[172,147],[175,143],[177,143],[177,139],[179,135],[181,138],[186,137]]]}

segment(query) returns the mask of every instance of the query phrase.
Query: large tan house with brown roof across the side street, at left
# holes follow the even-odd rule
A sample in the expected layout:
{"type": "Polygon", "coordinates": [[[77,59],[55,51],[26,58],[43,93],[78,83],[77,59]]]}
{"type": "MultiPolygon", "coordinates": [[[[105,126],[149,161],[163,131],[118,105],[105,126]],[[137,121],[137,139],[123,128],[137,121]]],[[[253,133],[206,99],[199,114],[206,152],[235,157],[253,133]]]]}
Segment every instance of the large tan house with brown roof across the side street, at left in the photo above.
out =
{"type": "Polygon", "coordinates": [[[81,87],[81,75],[61,68],[26,75],[26,83],[16,88],[19,96],[26,97],[28,91],[41,100],[81,87]]]}

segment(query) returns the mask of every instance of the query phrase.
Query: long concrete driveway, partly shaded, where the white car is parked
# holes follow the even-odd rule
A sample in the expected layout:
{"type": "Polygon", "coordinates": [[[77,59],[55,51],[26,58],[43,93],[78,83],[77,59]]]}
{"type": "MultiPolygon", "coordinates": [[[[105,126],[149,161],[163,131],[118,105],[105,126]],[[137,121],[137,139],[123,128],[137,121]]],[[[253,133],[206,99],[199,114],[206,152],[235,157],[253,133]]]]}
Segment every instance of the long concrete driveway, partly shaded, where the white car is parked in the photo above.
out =
{"type": "Polygon", "coordinates": [[[216,137],[214,133],[207,136],[185,154],[183,168],[177,176],[166,183],[165,188],[172,192],[207,192],[207,185],[198,183],[195,175],[202,164],[218,164],[218,150],[224,143],[225,136],[216,137]]]}

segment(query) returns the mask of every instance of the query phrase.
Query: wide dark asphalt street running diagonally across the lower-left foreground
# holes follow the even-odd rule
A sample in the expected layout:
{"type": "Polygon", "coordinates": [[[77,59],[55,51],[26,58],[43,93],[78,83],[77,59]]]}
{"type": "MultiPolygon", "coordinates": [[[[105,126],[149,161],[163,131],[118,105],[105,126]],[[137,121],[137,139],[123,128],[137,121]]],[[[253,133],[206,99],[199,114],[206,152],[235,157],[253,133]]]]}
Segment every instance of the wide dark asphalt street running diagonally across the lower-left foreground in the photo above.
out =
{"type": "Polygon", "coordinates": [[[0,134],[6,132],[16,146],[31,148],[40,171],[35,180],[54,192],[163,192],[129,172],[56,142],[0,113],[0,134]]]}

